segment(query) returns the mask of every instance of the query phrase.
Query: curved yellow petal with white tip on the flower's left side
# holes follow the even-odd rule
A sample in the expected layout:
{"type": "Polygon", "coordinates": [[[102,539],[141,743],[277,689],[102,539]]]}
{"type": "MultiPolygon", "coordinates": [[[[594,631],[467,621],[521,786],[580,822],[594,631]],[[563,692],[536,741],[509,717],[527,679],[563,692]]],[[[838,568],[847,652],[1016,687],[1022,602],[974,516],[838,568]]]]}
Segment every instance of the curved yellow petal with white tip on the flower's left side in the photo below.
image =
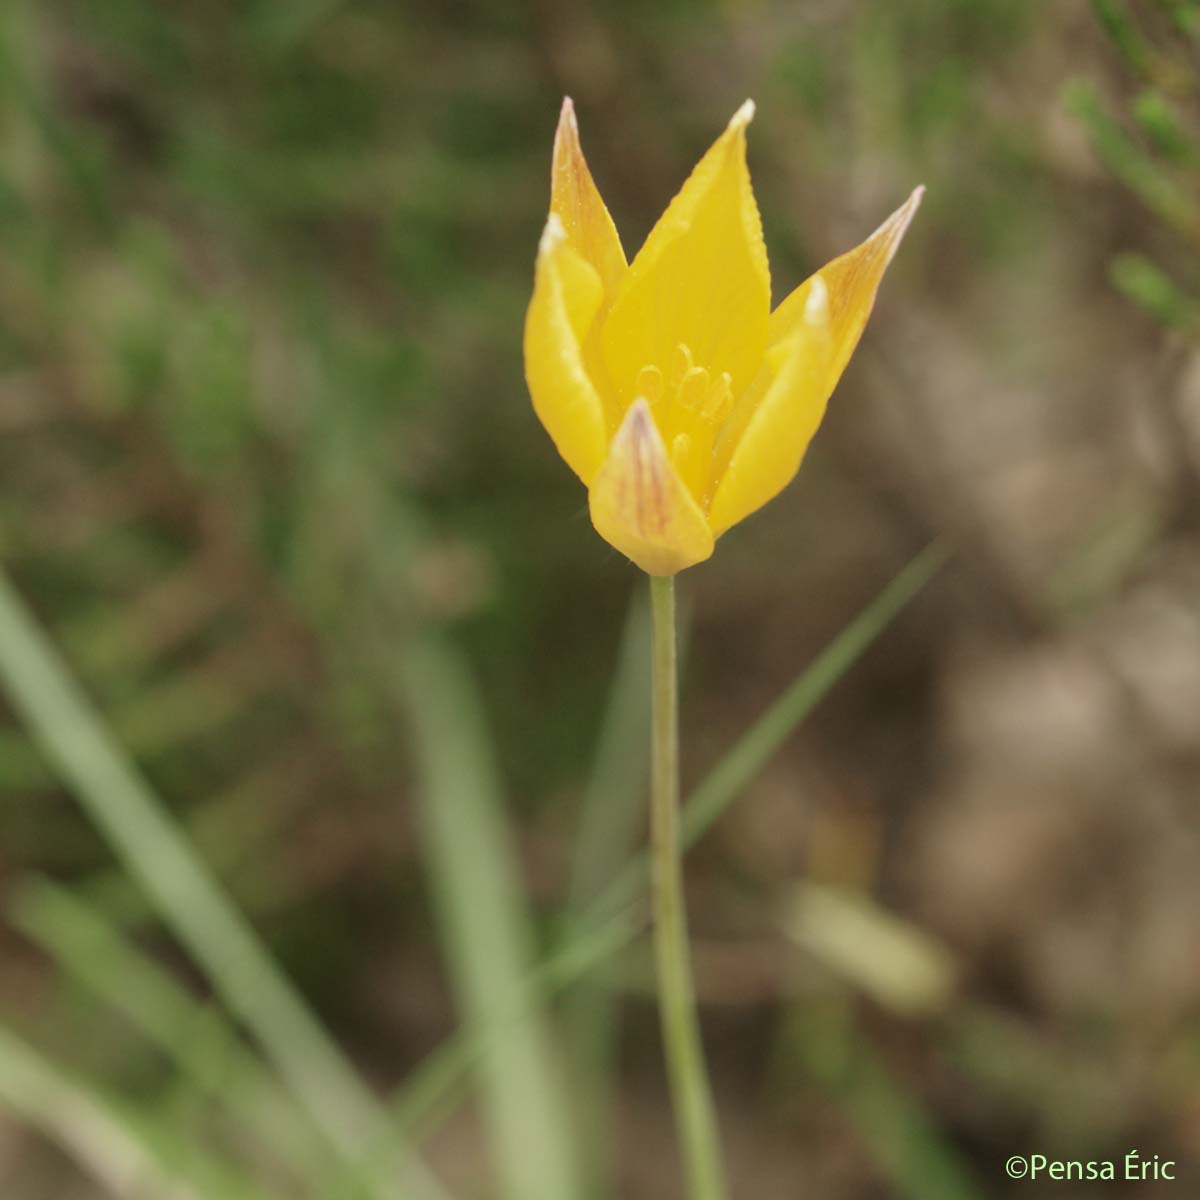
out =
{"type": "Polygon", "coordinates": [[[538,247],[526,314],[526,382],[538,419],[587,485],[600,469],[608,442],[604,403],[583,354],[602,299],[600,276],[570,245],[562,220],[552,212],[538,247]]]}

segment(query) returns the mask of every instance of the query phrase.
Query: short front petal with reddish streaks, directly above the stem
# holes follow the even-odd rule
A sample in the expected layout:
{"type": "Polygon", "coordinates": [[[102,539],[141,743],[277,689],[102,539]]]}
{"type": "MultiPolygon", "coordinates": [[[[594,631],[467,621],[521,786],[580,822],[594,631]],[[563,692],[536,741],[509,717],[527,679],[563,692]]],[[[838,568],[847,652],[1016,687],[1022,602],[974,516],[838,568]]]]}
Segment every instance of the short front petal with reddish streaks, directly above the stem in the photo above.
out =
{"type": "Polygon", "coordinates": [[[588,506],[596,533],[648,575],[674,575],[713,553],[704,514],[672,466],[643,398],[625,414],[588,506]]]}

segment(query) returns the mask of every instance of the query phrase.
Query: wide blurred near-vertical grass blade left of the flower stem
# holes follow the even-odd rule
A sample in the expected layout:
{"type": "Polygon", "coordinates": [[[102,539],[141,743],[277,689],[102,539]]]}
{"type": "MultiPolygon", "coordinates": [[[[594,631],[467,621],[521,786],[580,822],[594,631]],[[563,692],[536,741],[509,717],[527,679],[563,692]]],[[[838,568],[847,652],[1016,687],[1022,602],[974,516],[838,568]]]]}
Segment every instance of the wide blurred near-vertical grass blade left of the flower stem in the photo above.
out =
{"type": "MultiPolygon", "coordinates": [[[[486,1027],[518,996],[534,960],[530,916],[504,823],[488,734],[467,668],[446,644],[412,641],[398,666],[415,738],[420,818],[462,1015],[486,1027]]],[[[522,1004],[528,1013],[528,1004],[522,1004]]],[[[509,1200],[580,1195],[566,1096],[536,1018],[487,1042],[479,1079],[509,1200]]]]}

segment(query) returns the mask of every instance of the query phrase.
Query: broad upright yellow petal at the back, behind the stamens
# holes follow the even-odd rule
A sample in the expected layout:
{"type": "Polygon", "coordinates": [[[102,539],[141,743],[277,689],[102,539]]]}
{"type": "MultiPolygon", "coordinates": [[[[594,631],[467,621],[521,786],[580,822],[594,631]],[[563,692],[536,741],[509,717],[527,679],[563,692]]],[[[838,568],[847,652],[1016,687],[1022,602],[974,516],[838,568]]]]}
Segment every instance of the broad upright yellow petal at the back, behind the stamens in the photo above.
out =
{"type": "Polygon", "coordinates": [[[676,347],[733,391],[767,347],[770,275],[745,160],[749,101],[700,161],[629,268],[604,324],[605,361],[625,404],[643,366],[666,370],[676,347]]]}

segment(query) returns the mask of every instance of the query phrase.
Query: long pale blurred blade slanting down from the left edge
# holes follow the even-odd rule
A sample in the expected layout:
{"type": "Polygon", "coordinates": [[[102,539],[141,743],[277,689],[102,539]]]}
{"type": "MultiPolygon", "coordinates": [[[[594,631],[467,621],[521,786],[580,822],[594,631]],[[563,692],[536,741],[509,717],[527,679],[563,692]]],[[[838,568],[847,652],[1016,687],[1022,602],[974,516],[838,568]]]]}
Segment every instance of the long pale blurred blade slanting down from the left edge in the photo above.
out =
{"type": "MultiPolygon", "coordinates": [[[[296,1099],[341,1152],[358,1153],[380,1120],[373,1097],[109,737],[2,574],[0,682],[47,760],[258,1037],[296,1099]]],[[[426,1172],[409,1186],[412,1195],[440,1194],[426,1172]]]]}

